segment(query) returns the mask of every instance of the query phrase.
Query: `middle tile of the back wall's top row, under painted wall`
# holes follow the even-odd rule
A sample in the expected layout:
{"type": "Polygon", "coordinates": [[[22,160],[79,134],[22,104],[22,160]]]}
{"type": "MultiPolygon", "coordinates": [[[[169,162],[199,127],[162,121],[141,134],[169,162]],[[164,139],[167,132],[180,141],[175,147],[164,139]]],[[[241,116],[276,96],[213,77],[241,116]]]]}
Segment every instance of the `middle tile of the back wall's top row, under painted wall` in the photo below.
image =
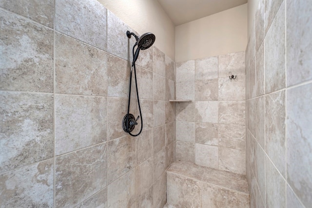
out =
{"type": "Polygon", "coordinates": [[[196,80],[218,78],[218,57],[208,57],[195,60],[196,80]]]}

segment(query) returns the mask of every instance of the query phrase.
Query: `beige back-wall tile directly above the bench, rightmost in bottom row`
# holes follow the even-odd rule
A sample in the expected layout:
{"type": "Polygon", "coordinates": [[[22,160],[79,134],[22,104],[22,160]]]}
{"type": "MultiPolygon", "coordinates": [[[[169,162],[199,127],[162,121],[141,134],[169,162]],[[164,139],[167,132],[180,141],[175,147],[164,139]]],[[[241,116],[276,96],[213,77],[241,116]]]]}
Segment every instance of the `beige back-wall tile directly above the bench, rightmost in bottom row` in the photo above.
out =
{"type": "Polygon", "coordinates": [[[218,147],[219,169],[246,174],[245,151],[218,147]]]}

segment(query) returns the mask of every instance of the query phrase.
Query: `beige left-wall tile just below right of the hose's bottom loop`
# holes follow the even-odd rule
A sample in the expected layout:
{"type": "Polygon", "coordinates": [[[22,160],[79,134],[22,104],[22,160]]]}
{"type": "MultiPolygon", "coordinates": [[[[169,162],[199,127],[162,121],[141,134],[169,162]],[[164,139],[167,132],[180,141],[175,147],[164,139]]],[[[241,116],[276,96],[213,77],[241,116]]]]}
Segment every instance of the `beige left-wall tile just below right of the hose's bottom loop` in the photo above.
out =
{"type": "Polygon", "coordinates": [[[141,164],[143,161],[150,158],[153,151],[153,130],[149,129],[141,132],[140,135],[136,137],[137,146],[137,164],[141,164]]]}

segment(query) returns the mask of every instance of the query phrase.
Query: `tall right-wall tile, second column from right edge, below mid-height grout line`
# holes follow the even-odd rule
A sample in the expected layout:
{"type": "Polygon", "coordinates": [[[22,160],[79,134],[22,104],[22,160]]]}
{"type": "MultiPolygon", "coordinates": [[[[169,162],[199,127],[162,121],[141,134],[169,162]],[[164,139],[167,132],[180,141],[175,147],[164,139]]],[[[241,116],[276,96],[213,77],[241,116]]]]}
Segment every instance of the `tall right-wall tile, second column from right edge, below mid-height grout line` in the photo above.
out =
{"type": "Polygon", "coordinates": [[[265,97],[265,151],[286,177],[285,91],[265,97]]]}

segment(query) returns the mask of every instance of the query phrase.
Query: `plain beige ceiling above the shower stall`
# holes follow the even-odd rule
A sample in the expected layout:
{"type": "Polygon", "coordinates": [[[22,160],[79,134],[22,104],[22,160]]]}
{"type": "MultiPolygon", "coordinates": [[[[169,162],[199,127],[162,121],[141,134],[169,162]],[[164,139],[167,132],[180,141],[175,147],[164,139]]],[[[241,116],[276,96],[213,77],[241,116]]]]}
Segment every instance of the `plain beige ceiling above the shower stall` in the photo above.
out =
{"type": "Polygon", "coordinates": [[[247,3],[247,0],[157,0],[174,24],[180,25],[247,3]]]}

